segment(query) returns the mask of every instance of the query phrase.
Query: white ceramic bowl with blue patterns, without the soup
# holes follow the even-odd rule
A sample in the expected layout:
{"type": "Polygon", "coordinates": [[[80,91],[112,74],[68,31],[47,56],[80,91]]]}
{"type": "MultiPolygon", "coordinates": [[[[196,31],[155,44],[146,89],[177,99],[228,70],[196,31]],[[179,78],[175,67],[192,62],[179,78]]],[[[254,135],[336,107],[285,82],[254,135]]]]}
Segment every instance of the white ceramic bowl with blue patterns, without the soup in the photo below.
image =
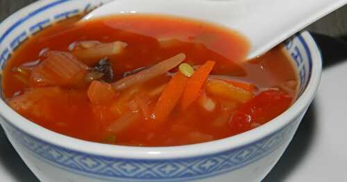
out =
{"type": "MultiPolygon", "coordinates": [[[[16,12],[0,25],[1,68],[33,33],[101,2],[37,1],[16,12]]],[[[278,118],[230,138],[180,147],[91,143],[35,125],[3,100],[1,126],[41,181],[261,181],[293,138],[321,78],[321,55],[309,33],[292,37],[286,48],[300,75],[300,97],[278,118]]]]}

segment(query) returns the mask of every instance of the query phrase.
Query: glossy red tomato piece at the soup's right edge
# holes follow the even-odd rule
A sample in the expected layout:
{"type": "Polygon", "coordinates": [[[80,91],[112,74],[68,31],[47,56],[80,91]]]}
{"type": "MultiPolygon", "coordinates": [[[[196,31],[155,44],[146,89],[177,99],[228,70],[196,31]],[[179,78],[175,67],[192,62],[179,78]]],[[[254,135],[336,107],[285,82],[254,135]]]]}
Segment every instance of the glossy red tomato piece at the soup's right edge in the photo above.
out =
{"type": "Polygon", "coordinates": [[[232,134],[252,129],[252,123],[263,125],[276,118],[289,108],[292,99],[284,91],[263,91],[234,113],[229,123],[232,134]]]}

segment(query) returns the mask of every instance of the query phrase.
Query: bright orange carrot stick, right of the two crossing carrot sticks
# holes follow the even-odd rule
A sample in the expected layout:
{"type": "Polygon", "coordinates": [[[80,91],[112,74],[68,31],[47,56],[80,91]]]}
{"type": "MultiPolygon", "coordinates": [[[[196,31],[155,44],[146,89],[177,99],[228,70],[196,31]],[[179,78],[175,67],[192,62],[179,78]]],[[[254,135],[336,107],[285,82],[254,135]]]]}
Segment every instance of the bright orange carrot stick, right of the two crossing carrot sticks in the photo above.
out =
{"type": "Polygon", "coordinates": [[[190,104],[192,104],[196,99],[198,99],[198,93],[201,91],[203,84],[210,75],[215,62],[208,61],[203,64],[197,71],[195,71],[192,78],[189,78],[187,83],[187,88],[183,93],[181,107],[182,109],[187,109],[190,104]]]}

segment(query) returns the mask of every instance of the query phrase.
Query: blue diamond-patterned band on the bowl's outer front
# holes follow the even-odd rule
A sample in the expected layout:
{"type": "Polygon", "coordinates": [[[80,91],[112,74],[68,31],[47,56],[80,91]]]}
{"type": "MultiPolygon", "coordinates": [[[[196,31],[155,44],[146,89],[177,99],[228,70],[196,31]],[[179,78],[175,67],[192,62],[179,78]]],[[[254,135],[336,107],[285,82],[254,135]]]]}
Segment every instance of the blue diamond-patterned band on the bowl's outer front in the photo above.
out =
{"type": "Polygon", "coordinates": [[[15,140],[24,149],[40,160],[69,172],[97,179],[134,181],[187,181],[237,170],[278,149],[289,140],[288,132],[294,129],[294,123],[291,123],[256,143],[213,155],[170,160],[135,160],[96,156],[66,149],[30,136],[9,122],[6,124],[10,135],[15,136],[15,140]]]}

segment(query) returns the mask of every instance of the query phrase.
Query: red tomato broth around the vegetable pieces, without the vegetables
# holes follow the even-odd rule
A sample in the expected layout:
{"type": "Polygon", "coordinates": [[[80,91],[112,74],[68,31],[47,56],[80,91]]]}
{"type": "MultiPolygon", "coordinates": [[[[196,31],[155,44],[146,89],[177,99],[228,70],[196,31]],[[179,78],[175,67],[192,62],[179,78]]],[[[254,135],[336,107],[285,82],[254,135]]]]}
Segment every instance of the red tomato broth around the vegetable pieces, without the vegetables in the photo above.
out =
{"type": "MultiPolygon", "coordinates": [[[[208,60],[216,62],[212,78],[254,84],[257,87],[255,93],[269,88],[280,89],[282,83],[297,80],[296,71],[287,56],[282,53],[281,46],[245,63],[249,47],[246,39],[232,30],[213,24],[158,15],[119,15],[90,21],[87,24],[74,24],[80,18],[74,17],[50,26],[19,46],[7,62],[3,74],[3,95],[9,102],[32,87],[13,76],[12,69],[26,62],[44,60],[40,52],[46,48],[51,51],[69,51],[71,44],[85,40],[121,41],[128,44],[119,55],[108,57],[116,80],[121,79],[126,71],[151,66],[178,53],[185,53],[185,62],[192,66],[201,66],[208,60]],[[178,39],[177,44],[161,47],[158,39],[168,38],[178,39]]],[[[174,69],[171,72],[176,71],[177,69],[174,69]]],[[[135,95],[146,98],[142,93],[167,84],[169,80],[171,73],[149,80],[137,87],[139,91],[135,95]]],[[[92,104],[88,99],[88,87],[89,84],[81,84],[78,88],[62,87],[61,93],[42,96],[42,101],[35,102],[35,106],[42,109],[42,116],[35,115],[35,107],[15,110],[42,127],[83,140],[116,145],[174,146],[235,135],[235,130],[230,129],[230,120],[233,113],[242,108],[242,104],[237,103],[235,109],[223,111],[223,102],[229,101],[206,93],[216,103],[214,111],[205,111],[198,101],[195,101],[184,111],[176,107],[160,127],[151,127],[153,120],[141,117],[119,133],[112,134],[107,131],[108,126],[121,117],[115,111],[119,110],[116,106],[120,105],[120,110],[128,111],[129,100],[124,98],[130,95],[134,88],[119,91],[111,103],[98,105],[92,104]],[[225,119],[217,122],[221,117],[225,119]],[[108,141],[109,136],[115,136],[115,141],[108,141]]],[[[287,94],[294,98],[296,89],[287,90],[287,94]]],[[[149,98],[146,101],[147,109],[153,111],[159,97],[160,95],[155,95],[149,98]]],[[[133,95],[130,98],[133,98],[133,95]]],[[[285,107],[284,110],[289,106],[285,107]]],[[[239,129],[236,134],[242,131],[244,130],[239,129]]]]}

